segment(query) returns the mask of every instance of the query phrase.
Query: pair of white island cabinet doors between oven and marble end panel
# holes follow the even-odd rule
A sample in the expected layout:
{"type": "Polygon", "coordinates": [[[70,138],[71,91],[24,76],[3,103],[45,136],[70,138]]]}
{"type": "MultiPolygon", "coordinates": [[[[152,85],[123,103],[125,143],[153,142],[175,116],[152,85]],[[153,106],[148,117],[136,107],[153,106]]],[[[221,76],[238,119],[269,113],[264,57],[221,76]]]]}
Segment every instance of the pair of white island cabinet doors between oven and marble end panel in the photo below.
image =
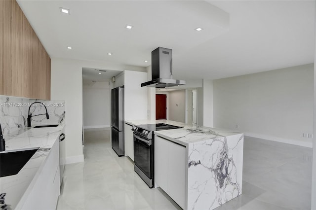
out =
{"type": "Polygon", "coordinates": [[[155,183],[185,208],[186,147],[155,135],[155,183]]]}

